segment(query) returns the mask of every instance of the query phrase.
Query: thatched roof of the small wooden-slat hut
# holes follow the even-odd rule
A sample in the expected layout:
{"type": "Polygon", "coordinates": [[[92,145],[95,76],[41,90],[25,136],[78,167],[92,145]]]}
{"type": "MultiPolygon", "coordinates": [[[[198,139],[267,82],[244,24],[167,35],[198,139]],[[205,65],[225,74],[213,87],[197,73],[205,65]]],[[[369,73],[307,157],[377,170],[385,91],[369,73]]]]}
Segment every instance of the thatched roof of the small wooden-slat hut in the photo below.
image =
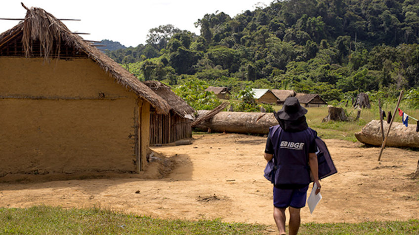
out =
{"type": "Polygon", "coordinates": [[[159,81],[145,81],[144,84],[150,87],[165,101],[167,101],[173,112],[181,117],[193,119],[192,114],[195,112],[195,110],[189,106],[182,98],[176,96],[176,94],[174,94],[169,86],[159,81]]]}

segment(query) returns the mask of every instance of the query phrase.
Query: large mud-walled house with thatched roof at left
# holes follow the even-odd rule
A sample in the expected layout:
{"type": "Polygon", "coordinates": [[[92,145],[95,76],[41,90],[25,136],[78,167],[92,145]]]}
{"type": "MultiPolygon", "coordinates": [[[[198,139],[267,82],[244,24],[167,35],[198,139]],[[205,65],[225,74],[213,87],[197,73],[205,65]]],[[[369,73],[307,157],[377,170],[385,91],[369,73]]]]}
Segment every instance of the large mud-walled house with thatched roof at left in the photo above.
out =
{"type": "MultiPolygon", "coordinates": [[[[25,6],[24,6],[25,7],[25,6]]],[[[167,101],[41,8],[0,34],[0,176],[139,172],[167,101]]]]}

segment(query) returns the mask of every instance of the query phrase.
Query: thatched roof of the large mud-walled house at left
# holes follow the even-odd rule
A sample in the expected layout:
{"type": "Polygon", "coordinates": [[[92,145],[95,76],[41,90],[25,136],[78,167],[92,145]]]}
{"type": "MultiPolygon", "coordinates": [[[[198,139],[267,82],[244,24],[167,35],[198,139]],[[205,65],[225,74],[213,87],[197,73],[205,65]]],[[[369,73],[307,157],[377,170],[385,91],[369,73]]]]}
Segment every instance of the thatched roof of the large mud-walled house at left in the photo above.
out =
{"type": "MultiPolygon", "coordinates": [[[[23,5],[23,3],[22,3],[23,5]]],[[[113,61],[111,58],[103,54],[94,46],[77,34],[71,31],[57,18],[50,13],[37,7],[27,8],[25,19],[19,22],[12,29],[0,34],[0,49],[5,46],[8,41],[18,36],[22,37],[23,50],[26,57],[30,57],[33,53],[32,45],[34,41],[39,41],[40,54],[45,61],[51,57],[59,58],[60,46],[64,43],[66,46],[85,53],[88,58],[96,62],[103,70],[109,74],[121,85],[134,92],[137,96],[149,101],[159,113],[167,114],[169,105],[150,88],[140,82],[134,75],[126,71],[122,66],[113,61]],[[58,51],[58,55],[57,52],[58,51]]]]}

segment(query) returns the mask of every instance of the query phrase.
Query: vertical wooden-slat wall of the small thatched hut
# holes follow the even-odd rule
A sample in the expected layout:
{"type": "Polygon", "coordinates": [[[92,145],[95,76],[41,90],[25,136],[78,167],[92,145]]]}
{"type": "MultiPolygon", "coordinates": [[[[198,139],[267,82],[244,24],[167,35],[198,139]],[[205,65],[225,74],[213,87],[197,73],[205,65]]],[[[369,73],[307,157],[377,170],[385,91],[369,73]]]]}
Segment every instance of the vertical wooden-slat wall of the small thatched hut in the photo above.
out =
{"type": "Polygon", "coordinates": [[[150,144],[172,143],[192,137],[192,121],[170,111],[169,115],[150,113],[150,144]]]}

